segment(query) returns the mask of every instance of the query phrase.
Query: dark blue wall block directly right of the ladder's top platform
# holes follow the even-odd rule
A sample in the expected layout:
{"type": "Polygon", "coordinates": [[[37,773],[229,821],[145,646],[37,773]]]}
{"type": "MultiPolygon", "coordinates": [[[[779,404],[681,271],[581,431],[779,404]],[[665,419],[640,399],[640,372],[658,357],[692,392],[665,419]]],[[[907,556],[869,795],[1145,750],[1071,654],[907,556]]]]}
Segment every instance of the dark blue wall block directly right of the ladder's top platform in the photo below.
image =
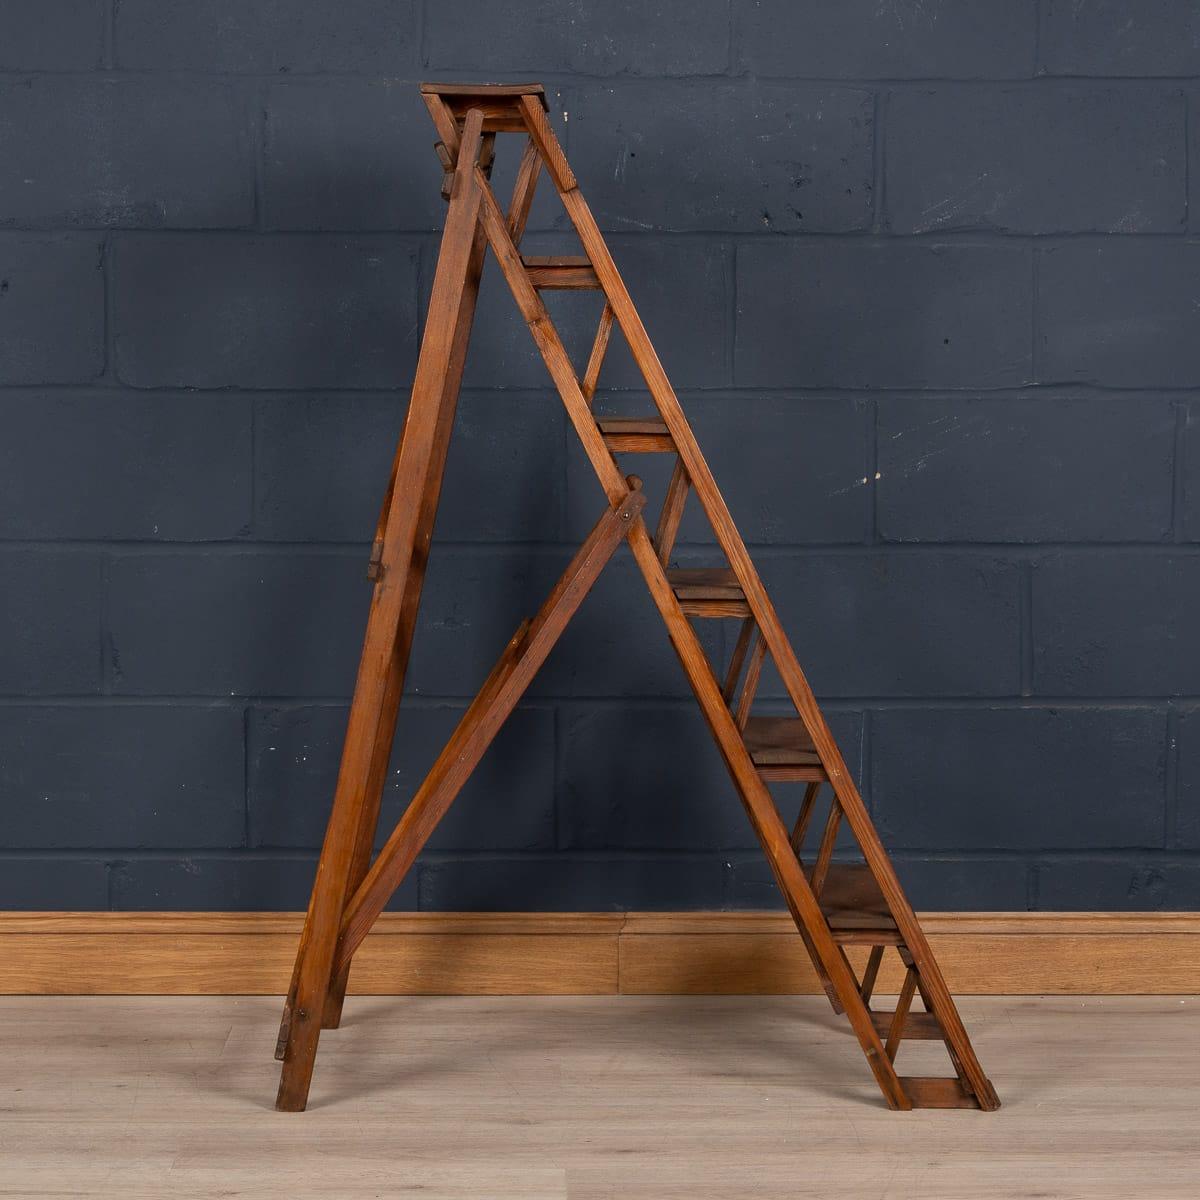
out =
{"type": "Polygon", "coordinates": [[[568,94],[571,166],[605,229],[841,233],[871,223],[875,97],[797,84],[568,94]]]}

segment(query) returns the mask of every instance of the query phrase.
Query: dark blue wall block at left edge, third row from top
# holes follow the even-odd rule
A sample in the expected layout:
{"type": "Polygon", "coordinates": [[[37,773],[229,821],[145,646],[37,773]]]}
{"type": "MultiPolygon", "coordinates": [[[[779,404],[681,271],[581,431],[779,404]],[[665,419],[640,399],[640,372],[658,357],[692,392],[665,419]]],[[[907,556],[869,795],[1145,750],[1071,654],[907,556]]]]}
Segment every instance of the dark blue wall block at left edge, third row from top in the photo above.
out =
{"type": "Polygon", "coordinates": [[[0,384],[104,370],[103,272],[98,238],[0,233],[0,384]]]}

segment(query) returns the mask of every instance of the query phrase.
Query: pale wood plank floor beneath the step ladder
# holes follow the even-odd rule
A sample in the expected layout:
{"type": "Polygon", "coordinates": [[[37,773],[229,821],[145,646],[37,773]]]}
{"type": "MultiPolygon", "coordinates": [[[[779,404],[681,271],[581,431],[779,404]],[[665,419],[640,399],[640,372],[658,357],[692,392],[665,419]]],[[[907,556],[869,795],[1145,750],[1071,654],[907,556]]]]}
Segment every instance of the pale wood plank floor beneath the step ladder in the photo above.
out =
{"type": "Polygon", "coordinates": [[[593,996],[352,997],[283,1115],[278,1007],[0,1000],[0,1196],[1200,1195],[1192,997],[964,1001],[996,1114],[887,1111],[823,998],[593,996]]]}

